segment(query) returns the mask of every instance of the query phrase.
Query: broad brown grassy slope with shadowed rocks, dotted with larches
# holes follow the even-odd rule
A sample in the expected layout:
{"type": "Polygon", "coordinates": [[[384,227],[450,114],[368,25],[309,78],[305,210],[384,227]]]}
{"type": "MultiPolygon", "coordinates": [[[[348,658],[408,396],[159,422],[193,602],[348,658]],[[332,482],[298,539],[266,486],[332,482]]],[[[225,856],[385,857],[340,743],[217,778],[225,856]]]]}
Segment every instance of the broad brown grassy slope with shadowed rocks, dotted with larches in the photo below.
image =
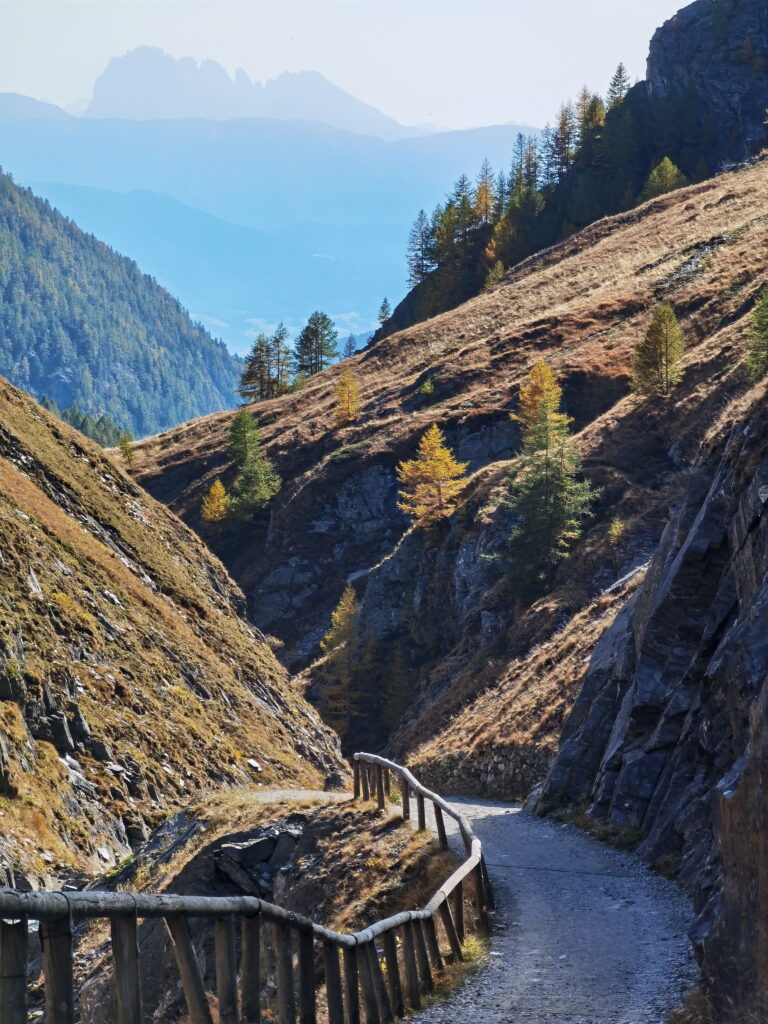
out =
{"type": "MultiPolygon", "coordinates": [[[[354,581],[375,668],[359,667],[367,708],[350,742],[383,742],[399,722],[398,748],[424,742],[514,658],[647,561],[712,420],[745,384],[744,323],[766,273],[766,163],[689,187],[600,221],[459,309],[378,342],[349,364],[362,398],[351,427],[333,425],[338,370],[254,409],[285,485],[268,524],[213,543],[294,666],[316,656],[354,581]],[[629,394],[632,351],[660,301],[681,317],[686,376],[673,400],[639,402],[629,394]],[[553,593],[526,609],[503,564],[483,556],[511,527],[498,509],[519,443],[509,414],[542,357],[561,376],[586,472],[603,490],[553,593]],[[427,380],[432,394],[421,393],[427,380]],[[447,522],[410,528],[395,507],[394,470],[433,422],[473,475],[447,522]],[[605,539],[613,515],[627,526],[617,550],[605,539]]],[[[216,474],[230,479],[230,415],[140,446],[138,478],[196,525],[204,488],[216,474]]],[[[562,721],[537,730],[536,716],[521,714],[525,736],[540,743],[562,721]]],[[[530,772],[520,779],[515,792],[530,772]]]]}

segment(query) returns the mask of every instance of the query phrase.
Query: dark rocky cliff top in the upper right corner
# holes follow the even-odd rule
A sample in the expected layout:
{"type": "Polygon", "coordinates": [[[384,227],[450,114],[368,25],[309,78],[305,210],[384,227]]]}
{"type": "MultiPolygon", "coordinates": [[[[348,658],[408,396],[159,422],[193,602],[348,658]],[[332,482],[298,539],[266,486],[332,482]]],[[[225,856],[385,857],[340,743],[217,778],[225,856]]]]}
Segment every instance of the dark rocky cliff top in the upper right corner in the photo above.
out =
{"type": "Polygon", "coordinates": [[[706,127],[715,161],[743,160],[766,143],[768,7],[763,0],[695,0],[657,30],[646,88],[680,100],[706,127]]]}

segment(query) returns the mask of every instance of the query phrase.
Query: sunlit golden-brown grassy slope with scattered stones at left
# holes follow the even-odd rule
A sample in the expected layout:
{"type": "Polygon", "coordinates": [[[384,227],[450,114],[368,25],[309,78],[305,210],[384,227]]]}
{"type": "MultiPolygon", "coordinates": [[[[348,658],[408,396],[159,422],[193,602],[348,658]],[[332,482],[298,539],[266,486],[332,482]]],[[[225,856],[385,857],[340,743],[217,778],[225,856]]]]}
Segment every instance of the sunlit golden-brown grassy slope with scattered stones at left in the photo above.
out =
{"type": "Polygon", "coordinates": [[[103,870],[227,783],[317,786],[335,738],[223,567],[0,380],[0,868],[103,870]]]}

